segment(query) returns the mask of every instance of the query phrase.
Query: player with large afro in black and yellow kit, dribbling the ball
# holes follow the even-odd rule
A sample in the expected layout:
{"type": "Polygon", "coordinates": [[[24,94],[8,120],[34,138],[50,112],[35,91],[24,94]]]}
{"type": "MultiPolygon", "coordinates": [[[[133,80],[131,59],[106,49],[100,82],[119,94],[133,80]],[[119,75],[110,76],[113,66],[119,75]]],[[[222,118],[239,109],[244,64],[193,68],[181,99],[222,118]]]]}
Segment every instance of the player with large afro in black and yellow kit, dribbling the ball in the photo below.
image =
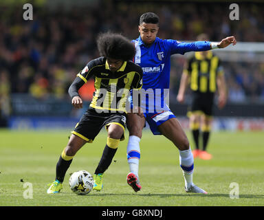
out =
{"type": "Polygon", "coordinates": [[[76,125],[67,146],[56,164],[56,179],[47,189],[48,194],[61,191],[65,173],[80,148],[94,141],[103,126],[107,129],[107,144],[94,173],[94,190],[102,190],[102,177],[115,155],[120,140],[124,140],[126,126],[126,100],[130,89],[142,87],[142,69],[129,61],[135,47],[120,34],[102,34],[98,38],[101,57],[90,61],[69,87],[72,104],[83,107],[78,90],[87,80],[94,78],[93,100],[89,109],[76,125]],[[127,92],[124,91],[126,89],[127,92]],[[124,95],[124,96],[123,96],[124,95]]]}

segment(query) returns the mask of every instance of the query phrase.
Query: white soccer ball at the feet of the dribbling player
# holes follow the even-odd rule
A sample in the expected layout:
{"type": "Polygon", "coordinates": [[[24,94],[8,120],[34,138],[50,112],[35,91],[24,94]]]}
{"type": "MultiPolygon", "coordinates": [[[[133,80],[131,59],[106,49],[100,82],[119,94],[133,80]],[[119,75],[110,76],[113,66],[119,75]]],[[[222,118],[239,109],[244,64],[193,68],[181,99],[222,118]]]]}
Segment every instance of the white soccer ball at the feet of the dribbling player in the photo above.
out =
{"type": "Polygon", "coordinates": [[[85,170],[74,172],[69,177],[69,187],[77,195],[86,195],[91,192],[94,186],[94,179],[91,174],[85,170]]]}

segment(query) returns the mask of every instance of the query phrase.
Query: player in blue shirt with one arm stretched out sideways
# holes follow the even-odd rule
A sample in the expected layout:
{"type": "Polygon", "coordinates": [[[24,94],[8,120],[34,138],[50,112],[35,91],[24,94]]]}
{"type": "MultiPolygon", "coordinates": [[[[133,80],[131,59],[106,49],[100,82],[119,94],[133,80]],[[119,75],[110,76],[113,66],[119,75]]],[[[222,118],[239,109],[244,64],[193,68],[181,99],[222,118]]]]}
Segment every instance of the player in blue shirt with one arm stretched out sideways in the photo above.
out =
{"type": "MultiPolygon", "coordinates": [[[[234,36],[227,37],[220,43],[210,43],[208,41],[181,43],[175,40],[162,40],[157,37],[158,30],[159,17],[152,12],[146,12],[140,17],[138,26],[140,36],[133,42],[136,48],[134,62],[143,69],[142,89],[153,89],[154,93],[155,91],[161,91],[159,94],[154,94],[155,98],[160,102],[164,101],[164,91],[169,88],[171,55],[184,54],[191,51],[212,50],[214,48],[227,47],[231,43],[233,45],[236,44],[234,36]]],[[[146,106],[144,115],[142,113],[128,114],[129,142],[127,159],[130,173],[127,175],[126,181],[129,186],[135,192],[142,188],[138,177],[140,139],[142,137],[142,129],[147,121],[153,134],[164,135],[179,149],[179,163],[184,173],[186,192],[207,193],[192,182],[194,159],[190,144],[179,121],[170,111],[168,105],[165,104],[163,111],[155,109],[154,112],[150,112],[148,111],[148,106],[151,105],[153,107],[157,103],[148,103],[148,100],[146,100],[144,104],[146,106]]]]}

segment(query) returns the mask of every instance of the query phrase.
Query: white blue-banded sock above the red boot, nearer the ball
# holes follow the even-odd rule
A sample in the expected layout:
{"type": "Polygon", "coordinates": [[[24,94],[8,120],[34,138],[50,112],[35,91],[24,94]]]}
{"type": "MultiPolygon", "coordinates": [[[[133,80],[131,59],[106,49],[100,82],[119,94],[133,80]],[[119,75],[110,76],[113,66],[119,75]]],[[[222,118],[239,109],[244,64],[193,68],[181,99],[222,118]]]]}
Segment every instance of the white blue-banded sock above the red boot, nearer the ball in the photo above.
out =
{"type": "Polygon", "coordinates": [[[138,168],[140,164],[140,137],[135,135],[129,136],[129,142],[126,148],[127,162],[129,162],[129,169],[138,178],[138,168]]]}

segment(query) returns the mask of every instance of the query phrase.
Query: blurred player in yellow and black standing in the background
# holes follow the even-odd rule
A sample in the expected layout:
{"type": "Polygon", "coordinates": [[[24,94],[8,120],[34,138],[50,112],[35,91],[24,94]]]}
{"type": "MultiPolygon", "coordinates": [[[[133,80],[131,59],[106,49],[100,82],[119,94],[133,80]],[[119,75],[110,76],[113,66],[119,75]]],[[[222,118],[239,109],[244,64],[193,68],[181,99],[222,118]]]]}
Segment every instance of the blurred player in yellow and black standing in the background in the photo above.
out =
{"type": "MultiPolygon", "coordinates": [[[[207,41],[206,34],[200,34],[197,41],[207,41]]],[[[181,76],[177,100],[184,102],[184,94],[190,83],[192,91],[192,103],[189,107],[188,117],[190,118],[190,130],[195,141],[196,149],[192,151],[193,157],[211,159],[212,155],[206,151],[208,139],[212,126],[212,110],[214,94],[218,89],[218,107],[223,108],[226,103],[227,94],[223,67],[217,56],[212,52],[195,52],[195,56],[188,59],[184,72],[181,76]],[[199,146],[200,138],[202,148],[199,146]]]]}

